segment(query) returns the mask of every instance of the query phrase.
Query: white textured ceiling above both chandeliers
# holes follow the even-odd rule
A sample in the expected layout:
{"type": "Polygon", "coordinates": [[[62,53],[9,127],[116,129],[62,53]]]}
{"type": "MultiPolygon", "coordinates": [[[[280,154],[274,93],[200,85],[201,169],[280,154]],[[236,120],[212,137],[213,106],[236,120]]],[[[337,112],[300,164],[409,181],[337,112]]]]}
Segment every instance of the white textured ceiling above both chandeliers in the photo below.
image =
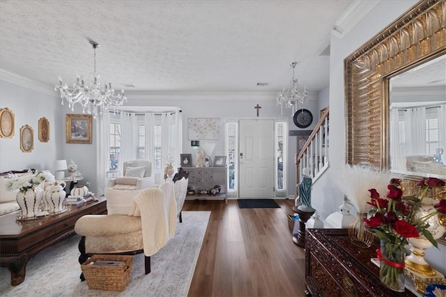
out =
{"type": "Polygon", "coordinates": [[[93,72],[126,91],[328,86],[335,22],[353,1],[5,1],[0,67],[54,86],[93,72]],[[256,86],[268,82],[268,86],[256,86]],[[123,84],[133,84],[128,88],[123,84]]]}

